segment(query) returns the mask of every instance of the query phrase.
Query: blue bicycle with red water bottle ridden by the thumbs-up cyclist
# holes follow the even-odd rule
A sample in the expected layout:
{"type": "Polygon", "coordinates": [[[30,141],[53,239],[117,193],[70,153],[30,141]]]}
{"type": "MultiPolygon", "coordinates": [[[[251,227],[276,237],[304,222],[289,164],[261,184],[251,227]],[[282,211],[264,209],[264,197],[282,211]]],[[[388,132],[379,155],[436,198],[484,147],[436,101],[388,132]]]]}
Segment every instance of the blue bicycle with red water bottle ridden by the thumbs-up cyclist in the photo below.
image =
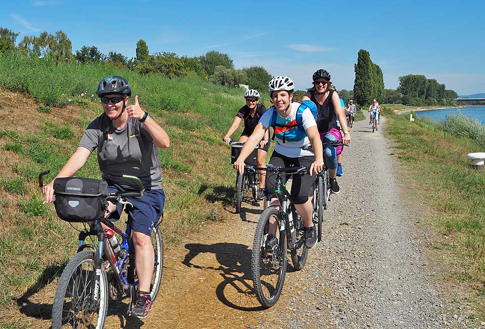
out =
{"type": "MultiPolygon", "coordinates": [[[[42,176],[49,173],[50,171],[44,171],[39,174],[39,187],[43,186],[42,176]]],[[[103,215],[90,221],[89,230],[86,228],[87,221],[84,222],[84,231],[79,231],[77,254],[65,266],[54,297],[53,329],[61,327],[103,328],[108,311],[108,298],[121,300],[123,297],[129,297],[127,315],[131,315],[138,285],[134,266],[135,253],[130,226],[131,217],[128,216],[126,230],[123,231],[104,216],[107,201],[126,205],[125,212],[127,212],[128,207],[133,207],[133,205],[126,198],[143,195],[144,187],[137,177],[128,175],[123,175],[123,177],[135,181],[139,190],[101,195],[103,215]],[[112,232],[103,229],[101,223],[109,227],[112,232]],[[119,245],[111,245],[113,242],[109,236],[114,234],[113,232],[122,237],[119,245]],[[92,235],[98,236],[98,245],[85,243],[86,238],[92,235]],[[109,277],[106,271],[108,268],[111,269],[109,277]]],[[[162,220],[159,220],[152,227],[152,243],[155,252],[150,289],[152,301],[155,301],[159,292],[163,270],[163,240],[158,228],[161,222],[162,220]]],[[[93,241],[92,238],[91,241],[93,241]]],[[[116,238],[115,241],[117,241],[116,238]]]]}

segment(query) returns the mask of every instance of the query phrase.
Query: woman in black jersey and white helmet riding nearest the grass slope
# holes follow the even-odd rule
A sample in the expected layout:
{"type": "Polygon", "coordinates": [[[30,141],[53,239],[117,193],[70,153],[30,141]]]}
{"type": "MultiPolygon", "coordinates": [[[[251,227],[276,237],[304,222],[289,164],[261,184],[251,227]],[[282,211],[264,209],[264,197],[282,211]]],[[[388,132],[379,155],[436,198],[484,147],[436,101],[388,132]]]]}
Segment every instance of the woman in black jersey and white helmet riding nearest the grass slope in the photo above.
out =
{"type": "MultiPolygon", "coordinates": [[[[246,99],[246,105],[241,107],[239,111],[237,111],[236,117],[232,122],[231,127],[227,131],[227,134],[224,136],[224,141],[227,145],[231,141],[232,134],[239,128],[241,121],[244,120],[244,130],[241,136],[239,137],[239,142],[246,142],[253,134],[254,129],[258,125],[258,121],[263,116],[263,114],[267,111],[266,107],[263,104],[259,104],[259,92],[254,89],[248,90],[244,94],[244,98],[246,99]]],[[[263,139],[259,142],[259,149],[258,149],[258,167],[264,167],[264,161],[266,159],[266,154],[268,153],[270,141],[269,141],[269,131],[264,133],[263,139]]],[[[259,172],[259,190],[258,190],[258,199],[264,198],[264,179],[263,173],[259,172]]]]}

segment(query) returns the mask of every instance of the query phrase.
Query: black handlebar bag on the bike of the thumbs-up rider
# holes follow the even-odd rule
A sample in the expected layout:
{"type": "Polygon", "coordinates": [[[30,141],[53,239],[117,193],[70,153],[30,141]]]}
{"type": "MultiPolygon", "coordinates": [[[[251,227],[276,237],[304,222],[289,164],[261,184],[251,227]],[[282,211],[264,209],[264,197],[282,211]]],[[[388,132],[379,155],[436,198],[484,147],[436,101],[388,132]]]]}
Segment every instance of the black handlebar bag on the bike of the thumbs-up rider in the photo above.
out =
{"type": "Polygon", "coordinates": [[[108,201],[108,183],[84,177],[56,178],[54,181],[57,216],[68,222],[88,222],[101,218],[108,201]]]}

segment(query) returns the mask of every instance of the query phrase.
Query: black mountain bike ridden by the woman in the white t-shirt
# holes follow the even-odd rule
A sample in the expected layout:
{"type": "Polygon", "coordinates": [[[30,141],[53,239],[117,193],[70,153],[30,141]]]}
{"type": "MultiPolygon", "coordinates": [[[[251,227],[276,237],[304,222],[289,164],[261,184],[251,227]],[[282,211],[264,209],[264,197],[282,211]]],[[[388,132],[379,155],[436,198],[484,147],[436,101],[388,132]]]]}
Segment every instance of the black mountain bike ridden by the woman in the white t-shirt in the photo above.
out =
{"type": "Polygon", "coordinates": [[[287,264],[286,251],[289,251],[293,267],[297,270],[302,269],[307,260],[308,249],[305,246],[303,220],[295,209],[282,176],[286,173],[305,175],[308,169],[268,165],[266,168],[247,166],[246,170],[253,173],[261,170],[277,174],[275,193],[266,195],[267,208],[261,214],[256,226],[251,255],[251,272],[256,297],[262,306],[268,308],[277,302],[283,289],[287,264]],[[270,207],[272,197],[278,199],[279,209],[270,207]],[[268,241],[270,221],[277,225],[275,244],[270,244],[271,241],[268,241]]]}

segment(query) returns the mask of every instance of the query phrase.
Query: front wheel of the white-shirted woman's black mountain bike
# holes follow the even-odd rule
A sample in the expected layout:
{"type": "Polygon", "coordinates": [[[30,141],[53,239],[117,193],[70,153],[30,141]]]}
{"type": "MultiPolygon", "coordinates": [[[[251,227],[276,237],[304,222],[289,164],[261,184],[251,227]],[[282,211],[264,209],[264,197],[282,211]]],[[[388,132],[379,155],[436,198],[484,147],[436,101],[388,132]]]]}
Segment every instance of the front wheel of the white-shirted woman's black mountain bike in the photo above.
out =
{"type": "Polygon", "coordinates": [[[279,233],[280,224],[279,211],[273,207],[267,208],[261,214],[254,236],[251,273],[256,297],[266,308],[273,306],[278,300],[286,275],[286,234],[279,233]],[[273,248],[266,245],[270,218],[277,223],[278,243],[273,248]]]}

